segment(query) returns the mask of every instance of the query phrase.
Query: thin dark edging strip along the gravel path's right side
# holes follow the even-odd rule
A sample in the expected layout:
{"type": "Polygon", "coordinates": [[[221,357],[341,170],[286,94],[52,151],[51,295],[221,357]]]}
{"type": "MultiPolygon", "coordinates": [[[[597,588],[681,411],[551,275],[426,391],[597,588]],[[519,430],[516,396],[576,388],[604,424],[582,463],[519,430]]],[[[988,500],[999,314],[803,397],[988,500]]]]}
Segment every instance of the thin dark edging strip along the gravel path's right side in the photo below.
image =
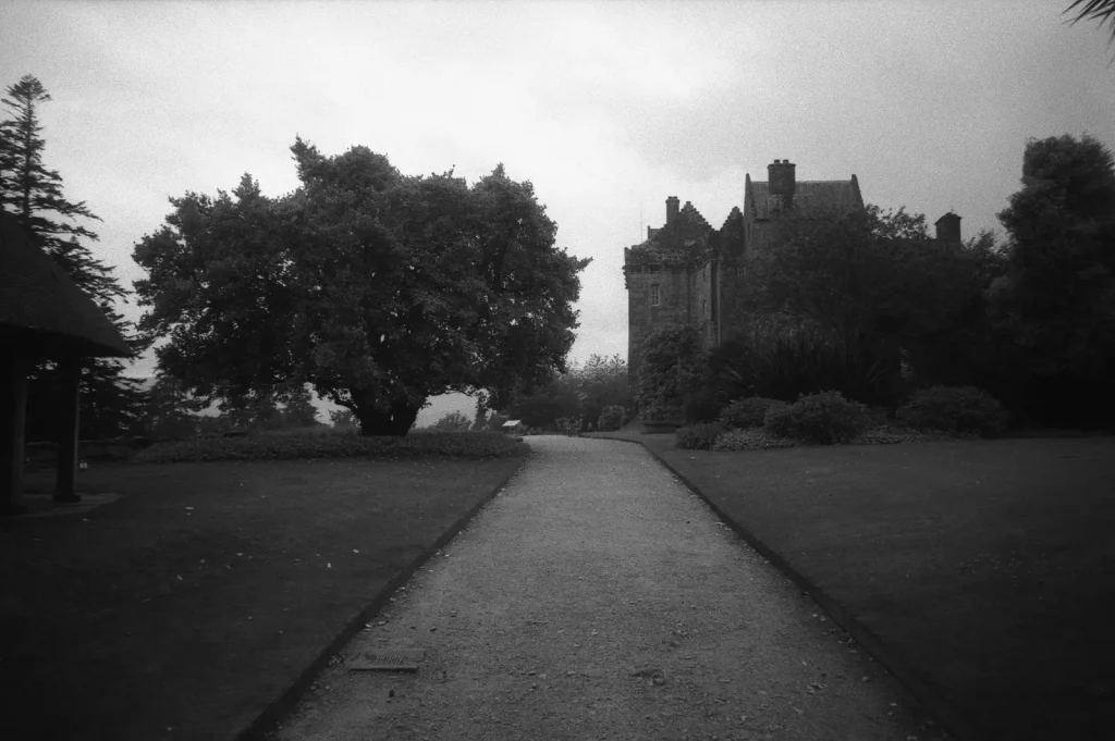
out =
{"type": "Polygon", "coordinates": [[[760,556],[766,558],[775,568],[785,574],[802,592],[805,592],[821,606],[830,617],[849,633],[855,642],[874,657],[883,669],[902,684],[905,690],[913,695],[932,715],[937,722],[944,727],[958,741],[986,741],[986,735],[979,732],[976,727],[961,713],[957,712],[942,696],[929,688],[913,667],[902,656],[886,647],[884,643],[871,632],[865,625],[852,617],[844,607],[833,599],[828,593],[811,582],[804,574],[791,565],[776,550],[770,548],[759,537],[749,529],[737,523],[728,513],[724,511],[710,497],[697,488],[681,471],[671,466],[665,458],[659,456],[650,446],[643,445],[639,440],[628,438],[595,438],[598,440],[614,440],[617,442],[630,442],[646,450],[666,470],[670,471],[687,489],[696,495],[712,513],[747,545],[755,548],[760,556]]]}

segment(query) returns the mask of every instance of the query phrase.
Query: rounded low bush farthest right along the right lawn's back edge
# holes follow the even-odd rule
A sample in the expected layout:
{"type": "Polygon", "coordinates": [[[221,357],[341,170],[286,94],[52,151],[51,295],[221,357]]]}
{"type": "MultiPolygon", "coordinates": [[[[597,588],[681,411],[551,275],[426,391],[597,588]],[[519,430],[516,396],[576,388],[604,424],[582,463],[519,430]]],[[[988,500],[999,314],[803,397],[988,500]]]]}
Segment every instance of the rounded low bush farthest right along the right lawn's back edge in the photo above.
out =
{"type": "Polygon", "coordinates": [[[971,386],[922,389],[899,408],[895,419],[915,430],[940,430],[992,436],[1007,427],[999,400],[971,386]]]}

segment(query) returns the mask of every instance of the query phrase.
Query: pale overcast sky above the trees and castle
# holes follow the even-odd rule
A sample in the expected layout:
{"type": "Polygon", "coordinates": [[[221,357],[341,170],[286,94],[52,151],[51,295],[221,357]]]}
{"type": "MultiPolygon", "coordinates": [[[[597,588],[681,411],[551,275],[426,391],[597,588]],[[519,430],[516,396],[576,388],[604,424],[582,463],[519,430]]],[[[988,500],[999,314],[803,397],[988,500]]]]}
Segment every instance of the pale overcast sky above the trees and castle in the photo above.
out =
{"type": "Polygon", "coordinates": [[[128,286],[167,196],[245,172],[289,192],[295,134],[407,174],[503,162],[593,259],[584,360],[627,355],[623,247],[667,196],[719,227],[744,175],[787,158],[930,223],[951,208],[967,237],[998,226],[1027,138],[1115,146],[1107,35],[1069,28],[1067,4],[0,0],[0,86],[31,74],[54,97],[46,163],[128,286]]]}

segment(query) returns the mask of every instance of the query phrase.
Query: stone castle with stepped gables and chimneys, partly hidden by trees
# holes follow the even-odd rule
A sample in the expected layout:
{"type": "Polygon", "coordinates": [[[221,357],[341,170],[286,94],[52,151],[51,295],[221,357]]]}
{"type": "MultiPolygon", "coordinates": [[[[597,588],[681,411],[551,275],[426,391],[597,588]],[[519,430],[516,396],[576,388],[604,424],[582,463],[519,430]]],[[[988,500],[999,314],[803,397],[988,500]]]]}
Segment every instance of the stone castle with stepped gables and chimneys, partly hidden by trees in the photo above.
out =
{"type": "MultiPolygon", "coordinates": [[[[628,291],[628,368],[637,378],[639,348],[657,328],[688,324],[697,328],[705,347],[712,348],[740,323],[737,275],[752,250],[772,244],[772,218],[795,214],[863,208],[860,182],[798,181],[796,165],[775,159],[766,182],[744,181],[743,207],[734,207],[719,230],[712,228],[689,202],[666,199],[666,224],[647,228],[647,240],[623,250],[623,282],[628,291]]],[[[959,243],[960,216],[937,220],[937,238],[959,243]]]]}

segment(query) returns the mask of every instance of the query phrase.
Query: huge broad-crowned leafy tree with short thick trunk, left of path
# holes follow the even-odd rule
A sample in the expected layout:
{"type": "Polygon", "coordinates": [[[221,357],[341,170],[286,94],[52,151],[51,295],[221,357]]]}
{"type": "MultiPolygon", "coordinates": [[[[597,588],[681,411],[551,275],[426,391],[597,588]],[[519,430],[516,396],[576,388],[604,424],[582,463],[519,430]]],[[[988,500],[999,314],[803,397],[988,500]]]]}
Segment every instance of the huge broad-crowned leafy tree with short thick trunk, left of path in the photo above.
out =
{"type": "Polygon", "coordinates": [[[309,382],[365,435],[406,435],[430,396],[484,389],[494,408],[565,369],[588,264],[554,245],[530,182],[410,177],[352,147],[295,139],[301,186],[270,198],[187,193],[134,257],[167,338],[161,367],[232,402],[309,382]]]}

